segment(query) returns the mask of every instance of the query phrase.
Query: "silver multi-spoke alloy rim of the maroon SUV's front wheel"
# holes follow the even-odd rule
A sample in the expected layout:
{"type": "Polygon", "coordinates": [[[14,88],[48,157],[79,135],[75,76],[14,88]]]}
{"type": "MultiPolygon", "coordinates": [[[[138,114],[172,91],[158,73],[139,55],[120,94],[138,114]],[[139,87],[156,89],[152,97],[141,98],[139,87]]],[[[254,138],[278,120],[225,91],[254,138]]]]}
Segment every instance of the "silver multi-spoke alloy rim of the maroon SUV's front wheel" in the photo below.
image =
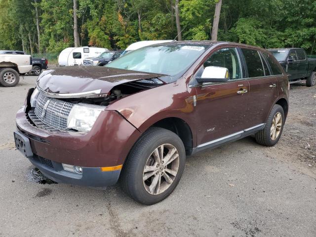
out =
{"type": "Polygon", "coordinates": [[[143,172],[146,191],[158,195],[166,191],[174,181],[179,169],[179,153],[171,144],[157,147],[147,159],[143,172]]]}

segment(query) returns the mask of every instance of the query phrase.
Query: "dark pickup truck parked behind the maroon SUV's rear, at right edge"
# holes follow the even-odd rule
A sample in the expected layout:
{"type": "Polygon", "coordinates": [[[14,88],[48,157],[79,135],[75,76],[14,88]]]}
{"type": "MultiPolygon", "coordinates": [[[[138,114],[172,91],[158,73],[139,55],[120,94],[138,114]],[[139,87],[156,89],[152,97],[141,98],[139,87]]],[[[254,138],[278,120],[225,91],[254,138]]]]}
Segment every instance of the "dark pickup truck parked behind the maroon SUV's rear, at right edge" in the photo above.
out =
{"type": "Polygon", "coordinates": [[[308,58],[303,48],[268,49],[284,68],[291,83],[306,80],[307,86],[316,84],[316,58],[308,58]]]}

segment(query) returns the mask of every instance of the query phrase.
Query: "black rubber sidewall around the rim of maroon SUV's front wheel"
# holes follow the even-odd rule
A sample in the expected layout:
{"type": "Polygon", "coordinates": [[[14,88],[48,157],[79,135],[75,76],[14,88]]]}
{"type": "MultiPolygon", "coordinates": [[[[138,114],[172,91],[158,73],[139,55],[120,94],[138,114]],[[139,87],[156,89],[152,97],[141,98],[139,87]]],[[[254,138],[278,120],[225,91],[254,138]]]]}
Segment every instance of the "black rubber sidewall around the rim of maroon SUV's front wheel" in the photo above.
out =
{"type": "Polygon", "coordinates": [[[133,180],[133,183],[135,185],[135,191],[137,192],[137,194],[135,193],[134,195],[138,196],[138,201],[148,205],[157,203],[163,200],[164,198],[168,197],[172,193],[172,191],[179,183],[185,167],[186,155],[185,148],[181,139],[175,133],[163,128],[158,128],[156,130],[155,135],[159,132],[160,134],[158,139],[156,136],[152,136],[152,139],[150,139],[149,143],[144,143],[145,146],[140,146],[138,147],[137,151],[133,151],[133,155],[135,156],[134,158],[136,158],[135,160],[138,160],[136,172],[133,175],[133,178],[135,179],[133,180]],[[151,195],[146,191],[143,184],[144,167],[152,152],[162,144],[171,144],[177,149],[179,153],[179,169],[175,179],[173,180],[172,184],[167,190],[158,195],[151,195]]]}

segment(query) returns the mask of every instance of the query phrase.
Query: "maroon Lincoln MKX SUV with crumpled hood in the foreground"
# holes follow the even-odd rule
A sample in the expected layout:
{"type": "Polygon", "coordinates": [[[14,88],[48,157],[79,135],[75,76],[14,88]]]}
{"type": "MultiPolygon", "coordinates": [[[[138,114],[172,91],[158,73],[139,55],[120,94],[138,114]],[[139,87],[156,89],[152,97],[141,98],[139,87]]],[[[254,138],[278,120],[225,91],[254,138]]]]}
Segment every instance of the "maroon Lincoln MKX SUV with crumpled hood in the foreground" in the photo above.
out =
{"type": "Polygon", "coordinates": [[[177,186],[186,156],[252,134],[275,145],[287,111],[288,79],[269,51],[177,41],[106,67],[44,71],[14,138],[56,182],[106,187],[120,178],[128,195],[153,204],[177,186]]]}

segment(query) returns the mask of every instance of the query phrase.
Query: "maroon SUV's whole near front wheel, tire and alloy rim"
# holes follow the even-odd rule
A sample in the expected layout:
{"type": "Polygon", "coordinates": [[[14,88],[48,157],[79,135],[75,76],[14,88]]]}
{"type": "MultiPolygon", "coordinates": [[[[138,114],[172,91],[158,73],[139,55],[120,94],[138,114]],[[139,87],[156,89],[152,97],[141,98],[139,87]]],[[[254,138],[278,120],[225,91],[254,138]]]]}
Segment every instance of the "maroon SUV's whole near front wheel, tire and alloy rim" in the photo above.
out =
{"type": "Polygon", "coordinates": [[[185,167],[181,139],[164,128],[149,128],[131,149],[122,170],[122,187],[134,200],[155,204],[178,185],[185,167]]]}

